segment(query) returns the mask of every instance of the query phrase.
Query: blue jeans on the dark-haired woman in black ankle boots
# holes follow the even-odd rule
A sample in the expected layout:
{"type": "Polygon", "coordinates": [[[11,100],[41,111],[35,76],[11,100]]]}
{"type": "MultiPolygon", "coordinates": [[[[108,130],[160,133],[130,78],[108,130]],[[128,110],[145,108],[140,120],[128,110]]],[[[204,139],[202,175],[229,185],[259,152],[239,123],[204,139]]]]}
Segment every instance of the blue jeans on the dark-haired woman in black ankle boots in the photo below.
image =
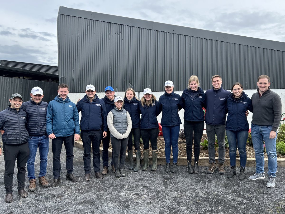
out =
{"type": "Polygon", "coordinates": [[[226,130],[227,138],[229,142],[230,150],[230,163],[231,166],[235,166],[235,160],[237,157],[237,148],[239,149],[239,158],[241,161],[241,167],[245,167],[247,163],[247,138],[249,136],[248,131],[231,131],[226,130]]]}

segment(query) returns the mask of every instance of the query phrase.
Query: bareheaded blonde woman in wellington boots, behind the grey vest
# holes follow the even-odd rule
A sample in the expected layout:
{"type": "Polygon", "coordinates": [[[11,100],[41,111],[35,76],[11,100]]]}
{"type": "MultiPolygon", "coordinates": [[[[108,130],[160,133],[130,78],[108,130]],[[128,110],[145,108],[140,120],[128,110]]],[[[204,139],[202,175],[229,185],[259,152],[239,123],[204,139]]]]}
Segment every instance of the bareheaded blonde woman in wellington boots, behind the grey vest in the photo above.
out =
{"type": "Polygon", "coordinates": [[[129,170],[137,172],[141,167],[141,150],[140,150],[140,139],[141,139],[141,118],[139,109],[139,99],[133,88],[127,88],[124,96],[124,108],[129,112],[132,119],[132,129],[129,134],[128,141],[128,157],[129,157],[129,170]],[[136,167],[134,168],[133,161],[133,138],[136,154],[136,167]]]}

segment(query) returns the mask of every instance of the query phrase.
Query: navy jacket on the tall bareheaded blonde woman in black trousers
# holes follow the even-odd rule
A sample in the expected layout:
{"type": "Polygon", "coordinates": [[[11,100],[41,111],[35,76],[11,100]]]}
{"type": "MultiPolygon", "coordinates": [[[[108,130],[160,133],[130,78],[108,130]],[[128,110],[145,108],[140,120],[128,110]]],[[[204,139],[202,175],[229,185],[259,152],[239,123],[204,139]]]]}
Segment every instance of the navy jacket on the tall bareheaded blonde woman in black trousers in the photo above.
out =
{"type": "Polygon", "coordinates": [[[184,120],[197,122],[205,120],[202,107],[206,107],[206,95],[202,88],[198,87],[197,91],[186,88],[181,98],[184,102],[184,120]]]}

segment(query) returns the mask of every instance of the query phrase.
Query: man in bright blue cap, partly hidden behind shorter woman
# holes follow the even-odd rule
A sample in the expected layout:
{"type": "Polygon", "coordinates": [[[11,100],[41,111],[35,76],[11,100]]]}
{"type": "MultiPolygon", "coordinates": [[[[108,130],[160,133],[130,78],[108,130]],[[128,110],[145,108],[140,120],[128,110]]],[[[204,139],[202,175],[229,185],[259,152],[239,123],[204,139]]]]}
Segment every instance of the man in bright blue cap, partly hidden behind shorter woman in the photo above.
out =
{"type": "MultiPolygon", "coordinates": [[[[106,96],[102,98],[102,100],[105,102],[105,107],[108,113],[114,109],[115,104],[114,104],[114,98],[115,96],[115,91],[112,86],[107,86],[105,88],[105,94],[106,96]]],[[[108,149],[110,146],[110,131],[108,129],[106,138],[102,138],[102,144],[103,144],[103,150],[102,150],[102,161],[103,161],[103,171],[102,175],[106,175],[108,173],[108,167],[109,167],[109,154],[108,154],[108,149]]],[[[111,160],[111,167],[112,171],[115,172],[115,167],[113,163],[113,152],[112,152],[112,160],[111,160]]]]}

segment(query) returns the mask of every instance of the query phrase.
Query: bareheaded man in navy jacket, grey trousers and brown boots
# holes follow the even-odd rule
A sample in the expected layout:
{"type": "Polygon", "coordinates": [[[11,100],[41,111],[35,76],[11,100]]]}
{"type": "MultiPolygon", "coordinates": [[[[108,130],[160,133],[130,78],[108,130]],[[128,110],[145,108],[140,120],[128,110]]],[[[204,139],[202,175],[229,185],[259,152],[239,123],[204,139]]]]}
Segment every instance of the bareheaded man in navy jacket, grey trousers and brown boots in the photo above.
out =
{"type": "Polygon", "coordinates": [[[219,174],[225,174],[225,124],[226,124],[226,107],[228,95],[231,93],[222,87],[222,78],[219,75],[212,76],[213,88],[206,91],[207,111],[205,116],[206,132],[208,137],[209,151],[209,169],[211,174],[216,169],[215,160],[215,136],[217,136],[219,145],[219,174]]]}

